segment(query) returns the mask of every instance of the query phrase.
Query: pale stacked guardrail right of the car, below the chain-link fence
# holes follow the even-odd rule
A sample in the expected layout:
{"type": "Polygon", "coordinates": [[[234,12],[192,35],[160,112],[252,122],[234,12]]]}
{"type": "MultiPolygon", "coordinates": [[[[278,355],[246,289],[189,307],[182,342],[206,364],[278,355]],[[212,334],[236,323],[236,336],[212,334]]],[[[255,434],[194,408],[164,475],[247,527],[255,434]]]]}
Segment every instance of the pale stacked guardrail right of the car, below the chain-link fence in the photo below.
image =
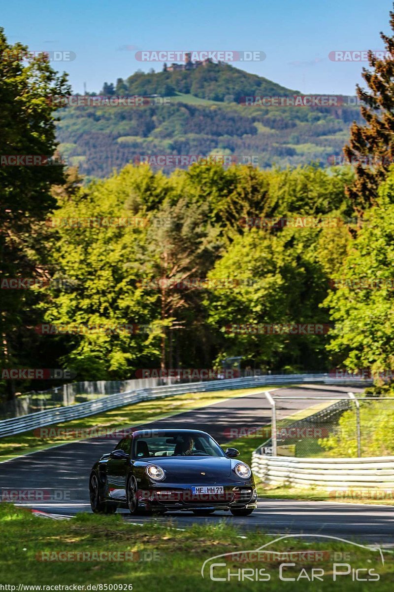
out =
{"type": "MultiPolygon", "coordinates": [[[[252,471],[267,485],[327,490],[394,488],[394,456],[369,458],[292,458],[252,454],[252,471]]],[[[337,497],[340,497],[338,495],[337,497]]],[[[376,496],[379,498],[379,496],[376,496]]]]}

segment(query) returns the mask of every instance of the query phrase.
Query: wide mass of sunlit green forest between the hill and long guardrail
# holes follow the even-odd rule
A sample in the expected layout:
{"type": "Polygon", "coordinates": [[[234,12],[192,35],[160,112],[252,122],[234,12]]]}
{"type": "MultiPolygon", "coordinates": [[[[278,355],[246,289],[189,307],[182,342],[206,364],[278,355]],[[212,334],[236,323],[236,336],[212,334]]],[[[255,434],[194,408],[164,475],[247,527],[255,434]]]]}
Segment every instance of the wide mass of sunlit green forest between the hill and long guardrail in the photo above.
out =
{"type": "MultiPolygon", "coordinates": [[[[323,368],[325,336],[232,336],[229,323],[327,321],[329,228],[249,231],[248,216],[327,215],[349,177],[318,168],[259,171],[198,165],[166,178],[127,166],[106,181],[58,191],[56,218],[133,217],[132,226],[57,224],[52,265],[69,280],[43,304],[54,325],[150,324],[149,333],[48,336],[80,379],[125,378],[160,363],[211,367],[241,353],[264,368],[323,368]],[[279,198],[278,198],[279,194],[279,198]],[[330,200],[328,200],[330,196],[330,200]],[[328,261],[328,263],[327,263],[328,261]],[[325,268],[324,268],[325,265],[325,268]],[[173,288],[165,282],[227,279],[227,287],[173,288]],[[239,286],[232,282],[242,280],[239,286]],[[253,280],[253,282],[249,282],[253,280]],[[144,281],[152,281],[151,285],[144,281]],[[248,284],[249,282],[249,284],[248,284]],[[149,287],[150,286],[150,287],[149,287]]],[[[342,191],[342,193],[341,193],[342,191]]],[[[341,236],[341,235],[340,235],[341,236]]],[[[334,257],[334,253],[332,255],[334,257]]]]}

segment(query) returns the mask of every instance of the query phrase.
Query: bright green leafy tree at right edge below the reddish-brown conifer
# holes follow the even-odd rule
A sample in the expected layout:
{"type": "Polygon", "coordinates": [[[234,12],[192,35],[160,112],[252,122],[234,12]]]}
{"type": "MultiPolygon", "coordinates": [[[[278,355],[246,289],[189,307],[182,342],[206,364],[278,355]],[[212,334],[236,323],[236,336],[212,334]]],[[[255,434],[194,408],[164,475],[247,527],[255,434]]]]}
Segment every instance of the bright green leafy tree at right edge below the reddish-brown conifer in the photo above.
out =
{"type": "Polygon", "coordinates": [[[394,368],[393,244],[394,172],[390,172],[376,204],[364,214],[349,256],[334,275],[337,289],[325,301],[336,323],[329,350],[352,371],[394,368]]]}

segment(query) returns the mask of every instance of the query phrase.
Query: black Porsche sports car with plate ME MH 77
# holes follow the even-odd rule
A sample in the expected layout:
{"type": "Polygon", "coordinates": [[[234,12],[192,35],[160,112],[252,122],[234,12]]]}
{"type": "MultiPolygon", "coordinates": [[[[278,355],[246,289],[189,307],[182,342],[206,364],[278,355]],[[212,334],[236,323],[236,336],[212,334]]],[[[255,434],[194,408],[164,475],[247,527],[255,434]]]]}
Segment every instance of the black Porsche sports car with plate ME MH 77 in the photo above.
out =
{"type": "Polygon", "coordinates": [[[138,430],[93,465],[94,512],[125,507],[132,514],[188,510],[206,516],[230,510],[248,516],[256,507],[252,471],[239,452],[200,430],[138,430]]]}

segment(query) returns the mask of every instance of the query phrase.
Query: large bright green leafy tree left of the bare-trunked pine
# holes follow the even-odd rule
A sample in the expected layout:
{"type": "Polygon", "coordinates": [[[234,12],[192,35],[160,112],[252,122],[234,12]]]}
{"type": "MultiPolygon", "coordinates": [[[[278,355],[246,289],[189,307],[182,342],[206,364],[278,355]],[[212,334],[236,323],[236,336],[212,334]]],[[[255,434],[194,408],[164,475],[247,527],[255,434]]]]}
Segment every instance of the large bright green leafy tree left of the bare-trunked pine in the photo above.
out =
{"type": "Polygon", "coordinates": [[[67,186],[57,189],[54,217],[64,223],[53,229],[51,259],[70,288],[52,291],[50,302],[43,303],[45,321],[70,327],[70,333],[45,339],[57,345],[61,363],[79,379],[130,377],[160,356],[159,327],[139,330],[159,318],[155,296],[141,287],[141,252],[151,210],[164,200],[168,181],[147,167],[129,165],[106,181],[79,189],[75,185],[71,176],[67,186]],[[70,226],[70,219],[79,220],[80,226],[70,226]]]}

